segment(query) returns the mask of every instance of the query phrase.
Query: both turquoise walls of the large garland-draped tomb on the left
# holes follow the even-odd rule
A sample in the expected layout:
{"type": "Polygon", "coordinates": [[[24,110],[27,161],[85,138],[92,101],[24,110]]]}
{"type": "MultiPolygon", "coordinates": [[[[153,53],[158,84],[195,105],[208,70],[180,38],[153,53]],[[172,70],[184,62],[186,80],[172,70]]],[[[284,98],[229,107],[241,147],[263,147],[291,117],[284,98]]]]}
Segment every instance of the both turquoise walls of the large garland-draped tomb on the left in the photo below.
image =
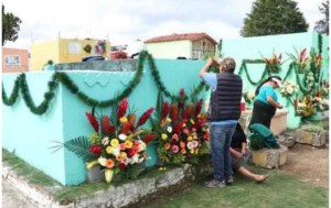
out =
{"type": "MultiPolygon", "coordinates": [[[[161,80],[170,92],[179,94],[180,88],[184,88],[190,95],[191,89],[197,86],[201,80],[199,72],[204,62],[156,59],[156,65],[160,72],[161,80]]],[[[115,92],[125,89],[135,75],[132,72],[71,70],[66,73],[82,91],[98,100],[113,98],[115,92]]],[[[3,84],[8,95],[18,75],[3,75],[3,84]]],[[[26,73],[29,87],[31,86],[30,92],[35,103],[42,100],[51,75],[52,73],[26,73]]],[[[150,68],[146,64],[140,84],[128,98],[129,105],[135,105],[138,108],[137,116],[141,116],[148,108],[156,106],[157,94],[158,90],[150,68]]],[[[201,92],[200,97],[203,96],[204,91],[201,92]]],[[[90,107],[83,103],[63,86],[58,88],[54,102],[43,116],[35,116],[30,112],[21,98],[13,107],[2,105],[2,120],[6,121],[3,122],[2,146],[9,151],[15,149],[18,156],[64,185],[81,184],[86,178],[85,165],[82,160],[66,150],[52,154],[49,147],[54,145],[52,141],[65,142],[93,133],[94,130],[85,116],[85,112],[90,110],[90,107]],[[20,131],[17,130],[18,128],[20,131]]],[[[99,110],[96,109],[97,112],[100,112],[99,110]]],[[[110,112],[110,109],[102,110],[107,114],[110,112]]],[[[147,161],[147,165],[154,165],[157,163],[154,145],[148,147],[148,156],[151,158],[147,161]]]]}

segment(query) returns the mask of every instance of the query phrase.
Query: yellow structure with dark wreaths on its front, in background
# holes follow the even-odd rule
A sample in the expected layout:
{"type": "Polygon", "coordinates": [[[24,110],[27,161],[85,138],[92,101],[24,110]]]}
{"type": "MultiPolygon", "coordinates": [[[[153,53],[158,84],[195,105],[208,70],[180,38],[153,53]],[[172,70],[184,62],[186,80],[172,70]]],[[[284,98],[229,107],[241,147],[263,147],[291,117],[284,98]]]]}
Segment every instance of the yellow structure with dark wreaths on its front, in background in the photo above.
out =
{"type": "Polygon", "coordinates": [[[34,43],[31,45],[31,70],[42,70],[50,59],[54,64],[75,63],[90,55],[110,58],[110,42],[90,39],[57,39],[34,43]]]}

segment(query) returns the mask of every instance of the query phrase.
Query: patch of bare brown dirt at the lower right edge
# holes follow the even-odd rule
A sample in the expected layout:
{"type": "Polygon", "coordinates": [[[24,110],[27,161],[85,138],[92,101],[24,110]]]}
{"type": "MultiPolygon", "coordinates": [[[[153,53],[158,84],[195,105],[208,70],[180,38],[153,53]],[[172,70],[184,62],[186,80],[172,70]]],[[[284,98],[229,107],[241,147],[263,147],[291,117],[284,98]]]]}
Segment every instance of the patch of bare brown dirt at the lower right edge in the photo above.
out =
{"type": "Polygon", "coordinates": [[[329,189],[329,149],[297,143],[289,149],[287,164],[281,171],[329,189]]]}

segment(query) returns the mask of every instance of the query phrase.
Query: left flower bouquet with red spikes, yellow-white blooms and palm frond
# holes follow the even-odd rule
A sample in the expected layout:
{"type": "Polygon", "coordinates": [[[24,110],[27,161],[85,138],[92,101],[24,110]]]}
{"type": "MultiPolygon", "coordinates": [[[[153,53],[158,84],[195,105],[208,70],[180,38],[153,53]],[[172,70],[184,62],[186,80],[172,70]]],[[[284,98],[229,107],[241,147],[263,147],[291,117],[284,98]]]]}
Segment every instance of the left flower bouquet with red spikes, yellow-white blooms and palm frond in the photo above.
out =
{"type": "Polygon", "coordinates": [[[148,109],[138,122],[136,113],[127,113],[127,109],[128,101],[124,99],[118,108],[113,108],[109,117],[103,114],[97,118],[94,112],[86,112],[94,133],[88,138],[81,136],[63,144],[87,163],[87,169],[96,164],[105,168],[107,183],[111,182],[114,174],[137,178],[143,171],[140,164],[147,158],[147,143],[156,138],[151,129],[140,128],[154,109],[148,109]]]}

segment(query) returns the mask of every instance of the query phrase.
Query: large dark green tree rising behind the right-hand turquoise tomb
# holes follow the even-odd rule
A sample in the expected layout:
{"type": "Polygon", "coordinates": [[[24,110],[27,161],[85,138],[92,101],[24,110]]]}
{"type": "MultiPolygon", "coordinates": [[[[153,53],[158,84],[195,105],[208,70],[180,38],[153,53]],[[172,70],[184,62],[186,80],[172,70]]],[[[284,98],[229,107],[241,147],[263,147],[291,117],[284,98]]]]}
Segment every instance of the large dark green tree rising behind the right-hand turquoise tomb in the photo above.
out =
{"type": "Polygon", "coordinates": [[[242,36],[307,32],[309,24],[292,0],[256,0],[244,20],[242,36]]]}

